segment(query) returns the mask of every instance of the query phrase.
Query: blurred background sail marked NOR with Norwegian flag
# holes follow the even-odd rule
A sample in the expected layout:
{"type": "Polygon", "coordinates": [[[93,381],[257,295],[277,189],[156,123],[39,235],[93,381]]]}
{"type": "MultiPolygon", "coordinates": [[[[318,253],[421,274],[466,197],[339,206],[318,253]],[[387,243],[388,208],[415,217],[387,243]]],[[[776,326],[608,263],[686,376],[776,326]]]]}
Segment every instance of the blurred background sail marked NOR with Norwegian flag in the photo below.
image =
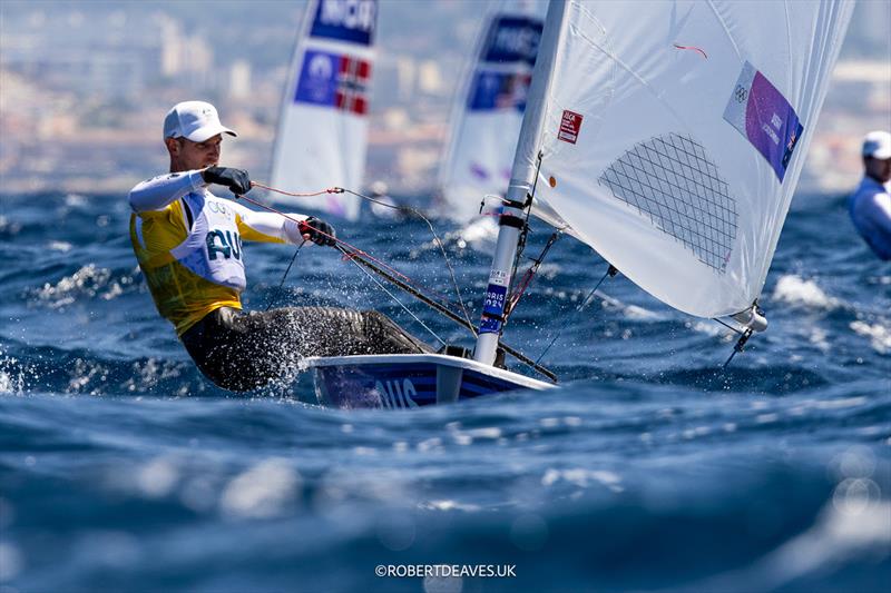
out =
{"type": "MultiPolygon", "coordinates": [[[[376,0],[307,6],[278,121],[273,186],[296,192],[361,189],[376,20],[376,0]]],[[[283,201],[359,217],[359,198],[344,194],[283,201]]]]}

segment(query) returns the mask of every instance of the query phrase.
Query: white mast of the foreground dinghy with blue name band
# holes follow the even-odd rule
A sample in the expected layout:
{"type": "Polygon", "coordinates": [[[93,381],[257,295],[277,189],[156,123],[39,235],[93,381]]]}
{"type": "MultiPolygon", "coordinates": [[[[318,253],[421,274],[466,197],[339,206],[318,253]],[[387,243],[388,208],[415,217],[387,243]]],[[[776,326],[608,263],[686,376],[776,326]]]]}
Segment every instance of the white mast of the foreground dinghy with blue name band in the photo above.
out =
{"type": "Polygon", "coordinates": [[[532,70],[532,82],[527,97],[520,139],[513,155],[513,167],[505,199],[505,209],[499,219],[498,243],[482,302],[477,348],[473,352],[473,359],[487,365],[495,363],[498,340],[503,328],[505,304],[510,283],[513,279],[511,277],[513,258],[517,255],[520,229],[526,224],[523,208],[531,194],[538,170],[538,150],[544,129],[547,96],[555,58],[562,37],[565,14],[566,2],[551,0],[545,18],[545,29],[538,48],[536,67],[532,70]]]}

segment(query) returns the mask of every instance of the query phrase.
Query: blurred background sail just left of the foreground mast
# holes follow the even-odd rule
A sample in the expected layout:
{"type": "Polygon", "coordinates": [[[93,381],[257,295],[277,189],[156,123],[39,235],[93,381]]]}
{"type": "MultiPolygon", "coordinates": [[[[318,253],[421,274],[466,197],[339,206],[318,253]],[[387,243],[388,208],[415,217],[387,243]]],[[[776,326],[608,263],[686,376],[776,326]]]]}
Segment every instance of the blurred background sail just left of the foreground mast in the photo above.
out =
{"type": "Polygon", "coordinates": [[[486,19],[458,93],[441,172],[450,218],[468,220],[486,194],[507,190],[544,14],[540,1],[499,0],[486,19]]]}

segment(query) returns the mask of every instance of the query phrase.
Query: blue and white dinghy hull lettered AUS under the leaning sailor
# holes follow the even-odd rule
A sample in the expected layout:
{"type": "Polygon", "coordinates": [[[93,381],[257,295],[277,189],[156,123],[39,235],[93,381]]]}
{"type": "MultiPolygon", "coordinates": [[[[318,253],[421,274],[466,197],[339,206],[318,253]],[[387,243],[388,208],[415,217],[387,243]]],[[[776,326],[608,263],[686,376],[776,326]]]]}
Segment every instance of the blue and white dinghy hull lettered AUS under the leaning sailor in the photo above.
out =
{"type": "Polygon", "coordinates": [[[548,389],[550,383],[476,360],[441,354],[307,358],[323,406],[413,408],[516,389],[548,389]]]}

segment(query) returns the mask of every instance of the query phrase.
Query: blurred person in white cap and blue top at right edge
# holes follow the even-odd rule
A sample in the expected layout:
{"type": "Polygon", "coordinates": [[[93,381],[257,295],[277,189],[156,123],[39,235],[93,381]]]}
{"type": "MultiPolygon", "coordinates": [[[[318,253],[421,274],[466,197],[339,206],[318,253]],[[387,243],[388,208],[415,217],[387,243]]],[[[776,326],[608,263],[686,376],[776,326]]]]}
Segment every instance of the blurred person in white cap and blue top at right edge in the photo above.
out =
{"type": "Polygon", "coordinates": [[[858,233],[880,259],[891,259],[891,134],[863,138],[863,180],[848,199],[858,233]]]}

